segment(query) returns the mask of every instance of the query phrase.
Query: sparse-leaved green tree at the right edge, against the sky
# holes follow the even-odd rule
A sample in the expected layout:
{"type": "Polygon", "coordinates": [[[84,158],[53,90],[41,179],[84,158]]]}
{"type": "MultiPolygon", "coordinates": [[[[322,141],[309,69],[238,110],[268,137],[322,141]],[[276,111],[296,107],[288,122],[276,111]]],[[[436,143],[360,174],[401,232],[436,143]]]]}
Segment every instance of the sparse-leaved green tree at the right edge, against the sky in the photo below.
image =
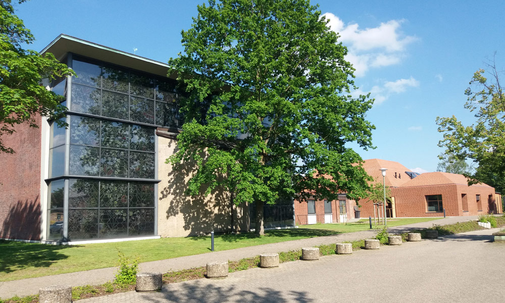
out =
{"type": "Polygon", "coordinates": [[[443,132],[439,146],[456,160],[473,160],[478,167],[474,173],[466,173],[469,184],[484,182],[505,190],[505,95],[500,84],[503,71],[494,62],[475,72],[465,108],[475,112],[476,121],[464,126],[455,116],[437,117],[438,131],[443,132]],[[489,78],[489,79],[488,79],[489,78]]]}

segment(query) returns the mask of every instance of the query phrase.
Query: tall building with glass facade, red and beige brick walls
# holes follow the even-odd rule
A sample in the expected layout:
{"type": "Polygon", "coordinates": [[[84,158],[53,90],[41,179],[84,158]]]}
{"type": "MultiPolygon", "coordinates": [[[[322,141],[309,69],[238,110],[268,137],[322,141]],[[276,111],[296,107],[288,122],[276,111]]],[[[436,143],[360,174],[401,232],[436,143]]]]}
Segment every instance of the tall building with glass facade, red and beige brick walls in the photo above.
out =
{"type": "MultiPolygon", "coordinates": [[[[45,83],[64,96],[61,128],[35,117],[2,138],[0,238],[47,242],[180,237],[250,230],[254,206],[229,192],[187,196],[194,172],[165,161],[177,148],[185,97],[169,66],[60,35],[52,53],[77,76],[45,83]]],[[[266,227],[293,226],[293,202],[265,206],[266,227]]]]}

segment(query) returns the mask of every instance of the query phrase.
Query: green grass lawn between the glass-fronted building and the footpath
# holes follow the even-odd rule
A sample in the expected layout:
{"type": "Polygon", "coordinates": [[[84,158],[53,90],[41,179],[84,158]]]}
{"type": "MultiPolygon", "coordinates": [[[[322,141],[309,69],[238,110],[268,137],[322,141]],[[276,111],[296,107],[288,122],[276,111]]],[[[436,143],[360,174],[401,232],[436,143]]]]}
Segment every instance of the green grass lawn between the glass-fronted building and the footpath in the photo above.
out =
{"type": "MultiPolygon", "coordinates": [[[[391,219],[389,226],[433,220],[391,219]],[[393,221],[397,220],[397,221],[393,221]]],[[[367,230],[368,222],[350,224],[317,224],[297,229],[266,231],[266,236],[253,233],[215,236],[215,249],[227,250],[303,238],[327,236],[343,232],[367,230]]],[[[118,250],[140,262],[156,261],[209,252],[210,237],[161,238],[153,240],[97,243],[83,245],[46,245],[0,240],[0,281],[56,275],[76,271],[113,267],[118,250]]]]}

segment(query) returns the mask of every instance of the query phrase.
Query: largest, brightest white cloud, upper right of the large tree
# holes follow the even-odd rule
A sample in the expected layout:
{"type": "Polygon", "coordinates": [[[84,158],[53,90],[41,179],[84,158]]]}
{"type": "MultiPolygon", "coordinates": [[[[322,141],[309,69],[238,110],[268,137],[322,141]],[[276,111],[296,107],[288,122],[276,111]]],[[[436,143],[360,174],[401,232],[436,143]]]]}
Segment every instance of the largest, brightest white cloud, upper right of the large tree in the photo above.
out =
{"type": "Polygon", "coordinates": [[[390,20],[378,27],[360,29],[359,24],[344,24],[332,13],[323,16],[329,20],[328,26],[340,35],[341,41],[348,48],[345,60],[356,69],[355,75],[362,77],[372,68],[400,63],[405,57],[408,44],[417,40],[415,36],[405,36],[400,27],[403,20],[390,20]]]}

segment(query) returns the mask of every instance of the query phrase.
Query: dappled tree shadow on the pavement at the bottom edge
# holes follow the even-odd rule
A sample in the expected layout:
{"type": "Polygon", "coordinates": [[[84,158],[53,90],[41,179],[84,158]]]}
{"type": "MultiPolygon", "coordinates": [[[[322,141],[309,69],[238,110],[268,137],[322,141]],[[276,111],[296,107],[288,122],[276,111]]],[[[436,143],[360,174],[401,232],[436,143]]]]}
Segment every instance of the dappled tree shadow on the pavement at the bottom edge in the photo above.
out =
{"type": "Polygon", "coordinates": [[[233,286],[203,285],[197,282],[184,285],[184,290],[170,289],[165,286],[161,295],[149,296],[150,302],[300,302],[309,303],[314,300],[309,298],[307,292],[289,291],[281,293],[278,290],[262,287],[257,291],[243,291],[233,286]]]}

